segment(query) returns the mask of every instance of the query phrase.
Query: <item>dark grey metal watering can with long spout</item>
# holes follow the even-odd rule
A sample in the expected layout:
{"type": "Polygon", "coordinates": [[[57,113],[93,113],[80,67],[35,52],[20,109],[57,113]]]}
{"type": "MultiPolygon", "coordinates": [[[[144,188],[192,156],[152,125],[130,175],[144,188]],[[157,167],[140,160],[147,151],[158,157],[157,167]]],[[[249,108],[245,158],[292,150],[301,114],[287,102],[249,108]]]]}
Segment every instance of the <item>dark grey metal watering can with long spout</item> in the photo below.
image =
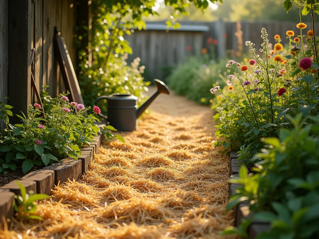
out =
{"type": "Polygon", "coordinates": [[[99,114],[106,119],[111,126],[120,131],[133,131],[137,128],[137,118],[146,110],[153,100],[160,94],[169,95],[168,87],[165,83],[155,79],[157,91],[139,108],[137,108],[137,97],[130,94],[112,94],[101,96],[95,101],[95,105],[101,99],[108,100],[108,116],[99,114]]]}

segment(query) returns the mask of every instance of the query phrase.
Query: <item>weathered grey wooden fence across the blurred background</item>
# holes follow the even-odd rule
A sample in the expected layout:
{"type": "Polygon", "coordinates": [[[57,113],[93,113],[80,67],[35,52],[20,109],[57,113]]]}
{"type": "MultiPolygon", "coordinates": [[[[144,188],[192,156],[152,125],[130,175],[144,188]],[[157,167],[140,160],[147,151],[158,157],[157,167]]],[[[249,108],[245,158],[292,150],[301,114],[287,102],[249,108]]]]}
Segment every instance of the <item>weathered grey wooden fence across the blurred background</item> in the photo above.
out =
{"type": "MultiPolygon", "coordinates": [[[[256,45],[256,50],[260,49],[262,43],[261,29],[266,28],[269,34],[270,43],[275,43],[274,35],[282,37],[283,44],[288,43],[286,31],[293,30],[295,37],[300,35],[300,29],[296,27],[297,22],[181,22],[180,29],[170,29],[166,31],[164,22],[147,22],[146,30],[138,31],[126,36],[130,42],[133,54],[129,60],[136,57],[141,58],[149,72],[151,78],[162,79],[164,76],[163,68],[175,65],[187,55],[200,54],[201,48],[211,48],[206,42],[209,37],[218,40],[216,54],[219,58],[225,58],[228,50],[237,51],[237,37],[235,33],[241,26],[243,52],[247,52],[246,41],[252,41],[256,45]],[[190,51],[186,51],[186,46],[190,46],[190,51]]],[[[307,23],[311,29],[311,23],[307,23]]],[[[317,25],[317,30],[319,25],[317,25]]]]}

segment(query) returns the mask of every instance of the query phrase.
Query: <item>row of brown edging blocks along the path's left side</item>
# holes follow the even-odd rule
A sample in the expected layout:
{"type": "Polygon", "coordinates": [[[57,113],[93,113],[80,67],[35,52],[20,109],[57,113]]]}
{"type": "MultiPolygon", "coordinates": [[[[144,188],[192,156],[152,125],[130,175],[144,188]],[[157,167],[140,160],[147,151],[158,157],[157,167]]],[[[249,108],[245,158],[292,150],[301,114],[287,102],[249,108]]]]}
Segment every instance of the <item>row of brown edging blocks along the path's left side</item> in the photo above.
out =
{"type": "MultiPolygon", "coordinates": [[[[17,181],[26,187],[27,192],[50,194],[51,189],[58,183],[67,182],[68,179],[80,179],[89,169],[94,155],[99,153],[102,137],[99,133],[94,136],[94,141],[89,147],[81,148],[82,156],[78,157],[78,160],[65,158],[43,169],[30,172],[17,181]]],[[[9,219],[14,215],[14,195],[20,194],[20,189],[14,181],[0,187],[0,228],[3,225],[2,217],[9,219]]]]}

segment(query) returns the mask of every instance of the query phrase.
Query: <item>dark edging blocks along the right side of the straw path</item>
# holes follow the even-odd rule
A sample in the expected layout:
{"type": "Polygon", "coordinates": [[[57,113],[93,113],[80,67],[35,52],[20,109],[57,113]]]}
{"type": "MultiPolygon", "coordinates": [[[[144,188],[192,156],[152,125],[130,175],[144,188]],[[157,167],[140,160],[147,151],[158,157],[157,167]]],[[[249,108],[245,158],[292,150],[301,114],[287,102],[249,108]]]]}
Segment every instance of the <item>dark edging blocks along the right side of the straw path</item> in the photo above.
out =
{"type": "MultiPolygon", "coordinates": [[[[230,177],[239,177],[239,169],[240,167],[237,166],[238,156],[236,151],[231,151],[229,156],[229,176],[230,177]]],[[[239,184],[229,184],[228,192],[229,192],[229,198],[236,193],[236,189],[238,187],[241,187],[239,184]]],[[[240,203],[236,207],[233,208],[234,210],[234,226],[238,227],[241,225],[241,220],[248,219],[252,216],[249,210],[249,205],[247,203],[240,203]]],[[[269,223],[265,223],[258,220],[253,220],[251,225],[249,226],[247,232],[249,239],[254,239],[256,236],[262,232],[268,231],[270,228],[269,223]]]]}

